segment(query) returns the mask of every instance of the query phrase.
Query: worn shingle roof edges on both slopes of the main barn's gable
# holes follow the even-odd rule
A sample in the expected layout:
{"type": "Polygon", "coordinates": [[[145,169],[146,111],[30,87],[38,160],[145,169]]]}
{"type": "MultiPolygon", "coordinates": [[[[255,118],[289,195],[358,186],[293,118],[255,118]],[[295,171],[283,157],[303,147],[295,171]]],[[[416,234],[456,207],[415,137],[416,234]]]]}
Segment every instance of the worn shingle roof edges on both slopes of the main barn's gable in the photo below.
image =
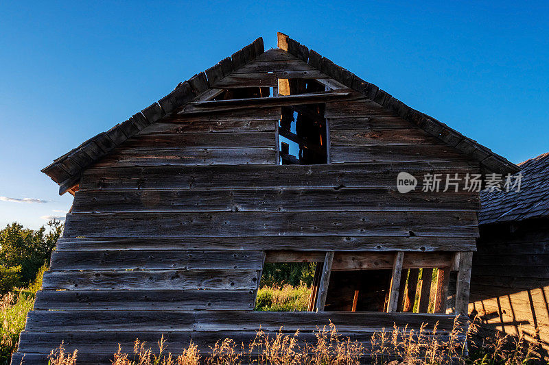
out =
{"type": "MultiPolygon", "coordinates": [[[[518,171],[515,164],[493,153],[487,147],[482,146],[482,144],[463,136],[463,134],[437,121],[435,118],[410,108],[408,105],[389,95],[388,92],[360,79],[360,77],[334,64],[334,62],[324,58],[315,51],[309,51],[307,47],[300,45],[299,42],[296,42],[285,34],[279,33],[278,38],[280,49],[295,55],[310,66],[336,79],[341,84],[362,92],[364,96],[379,103],[379,105],[382,105],[387,110],[424,129],[446,144],[458,149],[458,151],[469,155],[473,160],[480,162],[480,167],[483,171],[492,171],[495,173],[515,173],[518,171]]],[[[246,62],[254,60],[261,53],[264,53],[263,39],[257,38],[252,44],[234,53],[232,57],[225,58],[215,66],[208,68],[205,72],[194,75],[191,79],[180,83],[166,97],[152,103],[148,108],[133,115],[127,121],[119,123],[112,129],[86,140],[79,147],[54,160],[54,163],[43,168],[42,172],[60,185],[60,194],[65,193],[78,183],[80,175],[85,168],[100,160],[109,151],[112,151],[128,138],[141,131],[141,129],[151,123],[160,121],[173,112],[177,112],[194,97],[208,90],[215,82],[240,68],[246,62]]]]}

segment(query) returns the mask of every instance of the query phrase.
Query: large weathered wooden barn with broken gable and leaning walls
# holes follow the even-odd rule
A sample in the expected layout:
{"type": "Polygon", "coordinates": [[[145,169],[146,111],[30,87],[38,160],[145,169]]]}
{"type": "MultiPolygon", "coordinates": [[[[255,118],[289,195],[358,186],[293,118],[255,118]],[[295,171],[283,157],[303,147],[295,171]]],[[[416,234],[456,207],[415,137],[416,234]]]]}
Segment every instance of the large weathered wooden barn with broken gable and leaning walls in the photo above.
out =
{"type": "Polygon", "coordinates": [[[43,170],[74,201],[12,364],[61,341],[82,364],[162,334],[172,353],[259,326],[311,341],[329,320],[367,347],[393,323],[443,335],[467,312],[479,193],[423,177],[517,166],[278,37],[43,170]],[[401,172],[417,178],[405,194],[401,172]],[[253,310],[265,262],[318,262],[309,312],[253,310]]]}

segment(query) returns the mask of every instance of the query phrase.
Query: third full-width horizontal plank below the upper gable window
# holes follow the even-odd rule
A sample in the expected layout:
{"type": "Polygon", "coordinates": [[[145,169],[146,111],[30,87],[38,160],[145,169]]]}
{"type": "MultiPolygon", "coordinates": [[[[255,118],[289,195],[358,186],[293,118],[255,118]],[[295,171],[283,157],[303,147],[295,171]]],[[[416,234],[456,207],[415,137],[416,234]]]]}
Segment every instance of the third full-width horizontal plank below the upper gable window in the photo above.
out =
{"type": "Polygon", "coordinates": [[[477,237],[476,212],[180,212],[67,214],[67,237],[477,237]],[[410,233],[410,231],[412,233],[410,233]]]}

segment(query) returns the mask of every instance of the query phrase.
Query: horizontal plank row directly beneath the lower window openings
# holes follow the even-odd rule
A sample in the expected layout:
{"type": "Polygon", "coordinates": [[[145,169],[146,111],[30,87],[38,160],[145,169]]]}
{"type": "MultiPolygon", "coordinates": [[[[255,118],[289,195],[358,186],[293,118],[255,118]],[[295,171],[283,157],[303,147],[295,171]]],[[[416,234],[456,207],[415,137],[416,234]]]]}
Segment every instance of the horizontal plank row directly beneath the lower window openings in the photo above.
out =
{"type": "Polygon", "coordinates": [[[31,311],[27,325],[44,332],[80,331],[315,331],[329,321],[338,331],[372,332],[390,327],[398,321],[410,327],[430,324],[439,320],[439,329],[452,329],[451,316],[379,316],[374,312],[156,312],[156,311],[31,311]],[[420,321],[425,320],[425,322],[420,321]]]}

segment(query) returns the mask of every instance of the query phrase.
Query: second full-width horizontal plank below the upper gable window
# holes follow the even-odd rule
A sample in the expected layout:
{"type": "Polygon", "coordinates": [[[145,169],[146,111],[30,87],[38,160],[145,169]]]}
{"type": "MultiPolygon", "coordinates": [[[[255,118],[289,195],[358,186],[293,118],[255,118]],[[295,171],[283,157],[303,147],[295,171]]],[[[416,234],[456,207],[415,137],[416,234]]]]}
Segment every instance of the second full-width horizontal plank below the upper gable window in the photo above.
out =
{"type": "Polygon", "coordinates": [[[231,189],[79,191],[72,212],[319,212],[478,210],[473,192],[401,194],[395,189],[231,189]]]}

